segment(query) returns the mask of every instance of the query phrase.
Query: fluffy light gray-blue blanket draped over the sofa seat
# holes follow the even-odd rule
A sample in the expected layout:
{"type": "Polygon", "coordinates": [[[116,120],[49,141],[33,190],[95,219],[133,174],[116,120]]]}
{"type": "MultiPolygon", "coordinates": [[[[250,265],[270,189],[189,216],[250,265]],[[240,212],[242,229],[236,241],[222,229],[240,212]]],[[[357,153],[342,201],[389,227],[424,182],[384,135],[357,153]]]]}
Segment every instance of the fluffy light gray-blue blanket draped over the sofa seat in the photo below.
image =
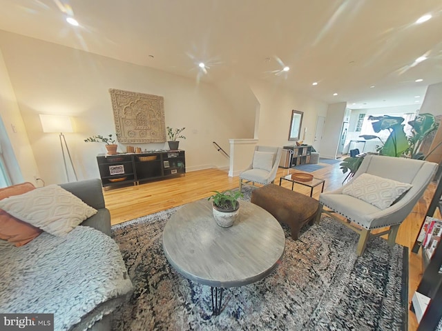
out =
{"type": "Polygon", "coordinates": [[[115,241],[86,226],[0,248],[0,312],[53,313],[55,330],[86,330],[131,292],[115,241]]]}

